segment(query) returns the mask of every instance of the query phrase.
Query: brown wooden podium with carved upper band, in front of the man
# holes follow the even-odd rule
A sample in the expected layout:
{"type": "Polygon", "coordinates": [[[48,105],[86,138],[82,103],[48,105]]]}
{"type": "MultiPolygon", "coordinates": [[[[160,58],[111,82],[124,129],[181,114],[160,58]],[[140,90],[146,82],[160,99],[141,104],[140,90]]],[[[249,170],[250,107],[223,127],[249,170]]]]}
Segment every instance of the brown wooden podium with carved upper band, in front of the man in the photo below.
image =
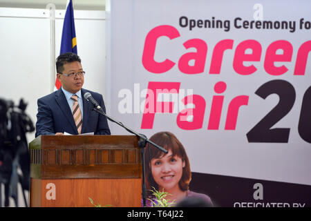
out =
{"type": "Polygon", "coordinates": [[[134,135],[42,135],[30,147],[30,206],[142,206],[134,135]]]}

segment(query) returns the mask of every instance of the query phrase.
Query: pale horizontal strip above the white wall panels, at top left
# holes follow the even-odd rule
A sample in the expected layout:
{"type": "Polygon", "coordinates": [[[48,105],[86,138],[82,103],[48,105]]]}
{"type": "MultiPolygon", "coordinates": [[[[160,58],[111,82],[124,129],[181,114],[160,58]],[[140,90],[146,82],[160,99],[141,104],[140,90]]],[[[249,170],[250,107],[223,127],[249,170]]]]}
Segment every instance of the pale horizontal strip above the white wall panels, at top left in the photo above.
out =
{"type": "MultiPolygon", "coordinates": [[[[0,0],[0,7],[8,8],[46,8],[54,3],[56,9],[66,8],[67,0],[0,0]]],[[[106,0],[73,0],[73,8],[77,10],[105,10],[106,0]]]]}

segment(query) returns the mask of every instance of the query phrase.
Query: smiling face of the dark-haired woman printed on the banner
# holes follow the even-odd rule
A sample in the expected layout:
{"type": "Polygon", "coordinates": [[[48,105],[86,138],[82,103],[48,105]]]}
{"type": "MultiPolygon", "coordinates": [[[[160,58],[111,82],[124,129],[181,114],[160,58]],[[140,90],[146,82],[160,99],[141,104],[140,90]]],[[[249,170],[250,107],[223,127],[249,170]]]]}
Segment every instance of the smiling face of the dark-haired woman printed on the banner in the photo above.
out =
{"type": "Polygon", "coordinates": [[[171,150],[160,158],[153,158],[151,172],[153,179],[159,185],[159,190],[169,191],[180,188],[178,183],[182,177],[183,167],[185,167],[185,162],[178,155],[173,156],[171,150]]]}

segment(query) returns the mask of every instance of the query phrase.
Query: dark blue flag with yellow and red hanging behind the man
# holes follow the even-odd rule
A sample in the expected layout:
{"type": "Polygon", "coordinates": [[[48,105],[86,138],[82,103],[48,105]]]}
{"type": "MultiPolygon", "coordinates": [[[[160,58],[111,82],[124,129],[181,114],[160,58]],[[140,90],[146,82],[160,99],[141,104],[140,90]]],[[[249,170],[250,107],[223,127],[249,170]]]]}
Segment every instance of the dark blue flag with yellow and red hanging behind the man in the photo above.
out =
{"type": "MultiPolygon", "coordinates": [[[[67,3],[59,55],[62,55],[64,52],[74,52],[77,54],[77,39],[75,37],[75,19],[73,18],[72,0],[69,0],[67,3]]],[[[55,86],[57,90],[62,86],[58,79],[55,81],[55,86]]]]}

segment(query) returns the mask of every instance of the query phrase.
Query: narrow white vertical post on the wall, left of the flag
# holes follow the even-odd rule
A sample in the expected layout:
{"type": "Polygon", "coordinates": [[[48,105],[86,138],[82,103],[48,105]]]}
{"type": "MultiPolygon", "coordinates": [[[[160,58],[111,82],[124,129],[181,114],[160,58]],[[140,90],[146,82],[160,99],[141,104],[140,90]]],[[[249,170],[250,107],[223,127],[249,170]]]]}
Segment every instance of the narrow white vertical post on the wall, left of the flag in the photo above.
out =
{"type": "Polygon", "coordinates": [[[50,10],[50,93],[55,88],[55,4],[48,3],[46,9],[50,10]]]}

